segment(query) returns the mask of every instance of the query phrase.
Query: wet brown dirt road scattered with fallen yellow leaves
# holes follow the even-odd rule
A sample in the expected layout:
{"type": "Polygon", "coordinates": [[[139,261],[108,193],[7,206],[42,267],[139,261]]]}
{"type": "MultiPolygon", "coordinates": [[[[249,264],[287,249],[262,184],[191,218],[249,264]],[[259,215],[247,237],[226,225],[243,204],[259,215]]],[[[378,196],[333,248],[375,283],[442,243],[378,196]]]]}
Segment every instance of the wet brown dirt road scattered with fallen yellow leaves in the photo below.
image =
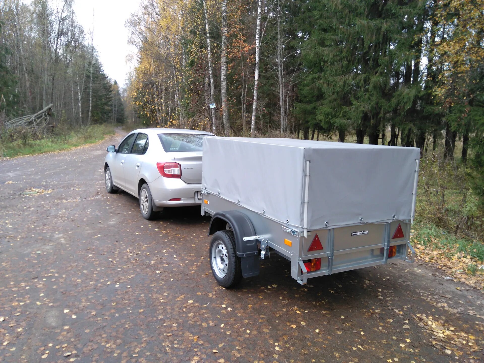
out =
{"type": "Polygon", "coordinates": [[[482,292],[434,268],[300,286],[272,254],[219,287],[198,209],[148,222],[136,198],[106,193],[120,138],[0,161],[0,362],[483,361],[482,292]]]}

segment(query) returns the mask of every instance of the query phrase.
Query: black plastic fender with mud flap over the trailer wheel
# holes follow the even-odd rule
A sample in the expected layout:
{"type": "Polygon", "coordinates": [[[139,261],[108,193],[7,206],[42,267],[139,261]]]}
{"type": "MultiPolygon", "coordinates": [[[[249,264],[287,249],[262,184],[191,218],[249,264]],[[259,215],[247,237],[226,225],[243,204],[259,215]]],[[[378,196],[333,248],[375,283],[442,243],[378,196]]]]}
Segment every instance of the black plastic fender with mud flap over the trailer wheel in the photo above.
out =
{"type": "Polygon", "coordinates": [[[215,212],[210,221],[208,235],[227,229],[227,224],[234,233],[237,257],[241,259],[242,276],[257,276],[259,274],[257,240],[243,240],[244,237],[256,235],[252,222],[244,213],[239,211],[215,212]]]}

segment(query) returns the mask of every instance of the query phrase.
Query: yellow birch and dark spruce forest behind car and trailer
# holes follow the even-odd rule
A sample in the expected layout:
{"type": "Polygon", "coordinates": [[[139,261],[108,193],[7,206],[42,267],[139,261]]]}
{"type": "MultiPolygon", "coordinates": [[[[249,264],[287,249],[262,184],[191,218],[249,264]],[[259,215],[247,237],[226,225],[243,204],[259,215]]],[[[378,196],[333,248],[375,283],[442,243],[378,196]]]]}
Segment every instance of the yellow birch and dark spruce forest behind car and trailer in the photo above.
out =
{"type": "Polygon", "coordinates": [[[142,0],[126,26],[130,121],[471,158],[484,197],[483,0],[142,0]]]}

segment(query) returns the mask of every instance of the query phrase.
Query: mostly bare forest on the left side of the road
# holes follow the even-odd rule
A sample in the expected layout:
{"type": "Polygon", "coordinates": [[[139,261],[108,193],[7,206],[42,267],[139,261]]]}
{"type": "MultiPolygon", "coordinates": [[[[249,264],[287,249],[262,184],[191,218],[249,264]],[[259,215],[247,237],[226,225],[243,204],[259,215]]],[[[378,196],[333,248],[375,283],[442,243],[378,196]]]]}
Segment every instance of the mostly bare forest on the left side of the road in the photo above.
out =
{"type": "Polygon", "coordinates": [[[77,23],[73,4],[0,0],[1,127],[49,106],[41,134],[124,120],[120,86],[106,76],[94,34],[77,23]]]}

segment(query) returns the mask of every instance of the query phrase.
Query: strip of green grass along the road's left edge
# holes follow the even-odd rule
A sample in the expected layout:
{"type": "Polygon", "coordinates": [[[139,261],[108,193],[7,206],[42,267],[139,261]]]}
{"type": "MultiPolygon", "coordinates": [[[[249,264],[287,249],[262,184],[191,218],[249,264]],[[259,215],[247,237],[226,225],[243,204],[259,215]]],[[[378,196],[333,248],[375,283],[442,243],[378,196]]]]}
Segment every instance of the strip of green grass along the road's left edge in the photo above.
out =
{"type": "Polygon", "coordinates": [[[76,130],[64,130],[54,135],[39,137],[31,134],[3,134],[0,137],[0,156],[15,157],[52,151],[72,149],[86,144],[94,144],[105,135],[114,134],[112,125],[100,124],[76,130]]]}

